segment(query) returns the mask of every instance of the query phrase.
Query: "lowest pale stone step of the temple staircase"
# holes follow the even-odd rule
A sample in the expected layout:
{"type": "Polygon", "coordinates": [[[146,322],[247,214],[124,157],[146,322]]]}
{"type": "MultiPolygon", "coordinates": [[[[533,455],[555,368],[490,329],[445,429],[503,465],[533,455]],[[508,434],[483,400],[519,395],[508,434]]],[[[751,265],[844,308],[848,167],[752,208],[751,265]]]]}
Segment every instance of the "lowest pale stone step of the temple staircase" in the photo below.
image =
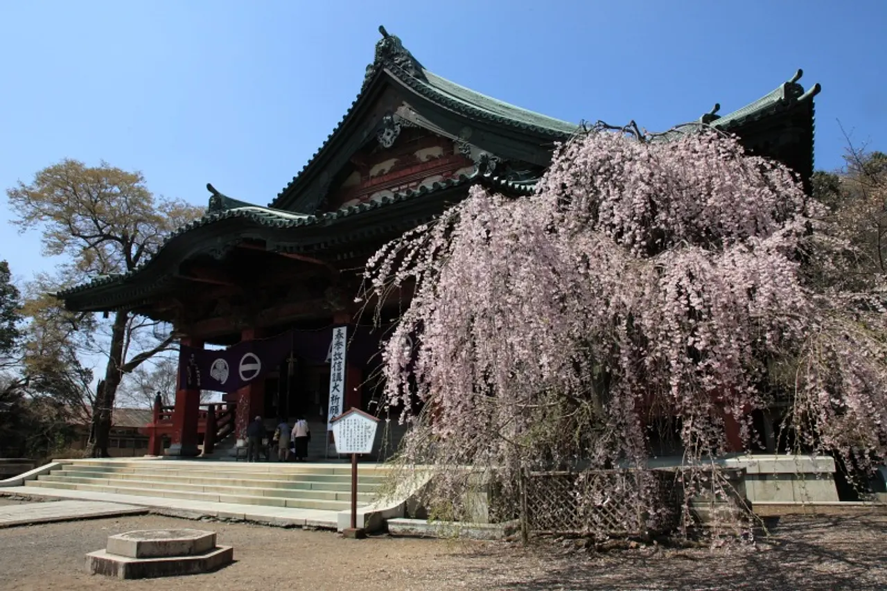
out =
{"type": "MultiPolygon", "coordinates": [[[[90,491],[93,493],[128,494],[140,497],[162,497],[165,499],[202,500],[217,503],[235,503],[243,505],[263,505],[267,507],[310,508],[326,511],[343,511],[350,508],[349,500],[311,500],[287,499],[283,497],[265,497],[249,494],[218,494],[171,491],[162,488],[137,488],[122,485],[84,485],[70,482],[50,482],[46,480],[29,480],[26,486],[52,488],[61,490],[90,491]]],[[[358,507],[365,506],[359,500],[358,507]]]]}

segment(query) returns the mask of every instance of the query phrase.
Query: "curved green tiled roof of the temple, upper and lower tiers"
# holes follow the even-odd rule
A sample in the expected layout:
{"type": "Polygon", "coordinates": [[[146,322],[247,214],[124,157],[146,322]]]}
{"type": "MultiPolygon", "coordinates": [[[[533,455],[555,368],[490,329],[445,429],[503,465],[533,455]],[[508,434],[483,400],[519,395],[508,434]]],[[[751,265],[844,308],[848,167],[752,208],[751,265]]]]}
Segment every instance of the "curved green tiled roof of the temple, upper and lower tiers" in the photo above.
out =
{"type": "MultiPolygon", "coordinates": [[[[184,257],[192,254],[193,248],[190,248],[187,244],[189,240],[197,240],[198,234],[202,236],[205,233],[208,235],[209,232],[221,232],[221,230],[216,231],[211,228],[216,228],[216,225],[224,223],[225,220],[237,220],[237,225],[231,226],[231,222],[229,222],[229,225],[225,226],[229,228],[227,232],[245,232],[247,228],[255,229],[256,227],[283,230],[304,228],[307,230],[310,227],[337,225],[346,219],[350,220],[357,213],[384,209],[396,203],[409,201],[422,195],[437,193],[460,185],[481,183],[505,193],[531,193],[532,182],[511,182],[504,177],[493,177],[490,174],[482,174],[479,171],[475,171],[475,174],[470,176],[462,176],[442,183],[435,183],[430,187],[423,186],[415,191],[396,193],[379,201],[369,201],[326,214],[310,215],[282,209],[281,205],[287,201],[287,194],[291,193],[294,187],[302,182],[306,171],[312,168],[312,165],[319,164],[318,156],[324,153],[325,150],[330,149],[331,141],[345,134],[345,131],[342,130],[344,123],[349,121],[349,118],[355,114],[356,108],[361,101],[366,102],[368,100],[366,97],[369,96],[369,92],[381,81],[383,76],[392,76],[397,82],[402,83],[404,86],[412,89],[412,91],[448,111],[463,114],[473,121],[483,120],[501,128],[521,130],[523,133],[528,133],[541,140],[557,141],[567,139],[582,129],[577,124],[563,122],[553,117],[509,105],[435,75],[423,67],[419,60],[415,59],[412,53],[404,48],[403,43],[401,43],[398,37],[389,35],[384,28],[380,28],[380,32],[382,38],[376,43],[375,59],[366,68],[362,89],[349,108],[349,112],[344,115],[333,133],[326,139],[325,144],[312,156],[311,160],[302,168],[302,171],[293,177],[292,182],[278,194],[269,207],[261,207],[247,201],[232,199],[217,192],[212,185],[207,185],[208,190],[212,193],[207,214],[170,234],[159,251],[144,264],[128,273],[99,277],[89,283],[61,291],[57,296],[66,299],[68,303],[70,303],[69,298],[75,296],[75,299],[82,303],[92,297],[90,295],[91,292],[97,299],[103,300],[108,304],[110,304],[110,300],[121,303],[123,300],[131,302],[131,298],[138,296],[138,294],[150,292],[152,286],[155,286],[161,280],[163,272],[168,272],[171,269],[174,270],[175,265],[180,263],[184,257]],[[243,229],[235,230],[235,228],[243,229]],[[194,232],[197,232],[197,234],[194,232]],[[188,237],[185,237],[185,234],[188,237]],[[113,290],[116,295],[107,297],[109,289],[113,290]],[[102,296],[99,296],[99,293],[102,296]]],[[[710,113],[703,114],[698,122],[680,125],[674,130],[663,134],[661,138],[667,140],[673,137],[672,134],[677,135],[685,130],[698,128],[699,125],[711,125],[720,130],[734,131],[743,126],[764,121],[773,114],[781,114],[797,106],[807,106],[804,116],[809,117],[806,123],[809,130],[805,131],[809,136],[809,138],[805,139],[805,142],[809,143],[810,150],[808,153],[809,170],[801,172],[812,174],[812,97],[820,92],[820,85],[815,84],[811,89],[805,91],[797,83],[801,75],[801,70],[798,70],[797,75],[793,76],[788,82],[782,83],[774,91],[733,113],[720,116],[717,114],[719,106],[715,106],[710,113]]],[[[805,168],[807,168],[806,165],[805,168]]],[[[299,232],[302,231],[300,230],[299,232]]],[[[295,235],[294,240],[298,240],[298,237],[295,235]]],[[[347,240],[337,236],[332,241],[341,243],[347,240]]],[[[94,306],[93,309],[95,309],[94,306]]]]}

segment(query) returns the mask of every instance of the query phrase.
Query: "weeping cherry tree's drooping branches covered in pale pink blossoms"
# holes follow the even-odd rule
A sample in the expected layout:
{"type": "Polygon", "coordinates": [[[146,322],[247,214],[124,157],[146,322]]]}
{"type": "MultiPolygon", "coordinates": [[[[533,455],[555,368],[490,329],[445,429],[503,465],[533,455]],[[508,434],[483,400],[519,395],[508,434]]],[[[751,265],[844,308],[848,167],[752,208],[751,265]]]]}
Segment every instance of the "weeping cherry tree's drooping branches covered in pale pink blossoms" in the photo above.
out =
{"type": "Polygon", "coordinates": [[[437,501],[472,470],[507,492],[518,469],[646,466],[665,421],[686,508],[712,482],[694,467],[734,449],[727,423],[749,448],[751,414],[783,399],[797,445],[883,457],[883,307],[835,279],[850,247],[824,209],[735,138],[635,131],[560,146],[528,198],[475,187],[367,264],[380,306],[412,290],[383,398],[414,424],[404,461],[439,470],[437,501]]]}

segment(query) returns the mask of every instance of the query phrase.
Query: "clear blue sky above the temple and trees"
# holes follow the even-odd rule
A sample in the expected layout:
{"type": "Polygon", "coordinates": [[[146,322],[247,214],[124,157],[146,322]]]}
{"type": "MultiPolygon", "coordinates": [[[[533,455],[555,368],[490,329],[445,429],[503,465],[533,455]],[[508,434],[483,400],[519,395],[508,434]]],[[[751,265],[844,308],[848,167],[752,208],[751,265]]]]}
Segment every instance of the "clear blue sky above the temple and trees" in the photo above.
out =
{"type": "MultiPolygon", "coordinates": [[[[0,0],[0,188],[65,157],[206,203],[265,204],[357,95],[385,25],[438,75],[572,122],[649,130],[722,113],[803,67],[816,164],[887,151],[887,1],[0,0]]],[[[51,265],[0,205],[0,259],[51,265]]]]}

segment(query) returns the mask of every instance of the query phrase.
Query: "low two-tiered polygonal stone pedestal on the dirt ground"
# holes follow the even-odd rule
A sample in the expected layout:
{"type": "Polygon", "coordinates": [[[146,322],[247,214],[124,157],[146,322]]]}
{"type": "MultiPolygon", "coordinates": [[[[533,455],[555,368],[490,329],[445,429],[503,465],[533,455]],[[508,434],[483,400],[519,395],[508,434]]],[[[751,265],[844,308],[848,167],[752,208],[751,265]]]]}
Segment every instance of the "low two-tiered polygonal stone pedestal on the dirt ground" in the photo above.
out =
{"type": "Polygon", "coordinates": [[[215,571],[233,559],[232,547],[216,546],[215,532],[148,530],[108,537],[105,550],[86,555],[86,570],[118,579],[145,579],[215,571]]]}

